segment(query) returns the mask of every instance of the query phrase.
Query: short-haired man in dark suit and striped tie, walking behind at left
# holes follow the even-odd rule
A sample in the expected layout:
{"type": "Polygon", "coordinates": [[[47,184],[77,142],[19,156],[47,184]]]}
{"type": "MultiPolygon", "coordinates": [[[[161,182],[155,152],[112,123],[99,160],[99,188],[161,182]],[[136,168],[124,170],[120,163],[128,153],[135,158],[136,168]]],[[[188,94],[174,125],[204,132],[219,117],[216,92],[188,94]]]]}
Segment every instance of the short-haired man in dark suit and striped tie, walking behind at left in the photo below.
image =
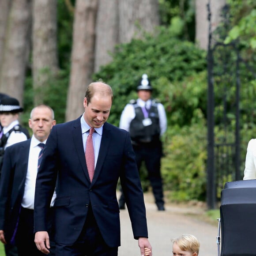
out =
{"type": "MultiPolygon", "coordinates": [[[[46,105],[35,107],[29,119],[33,131],[31,139],[7,147],[4,153],[0,180],[0,241],[16,242],[19,256],[44,255],[34,244],[34,190],[41,144],[45,144],[55,124],[53,109],[46,105]]],[[[55,255],[54,252],[51,255],[55,255]]]]}

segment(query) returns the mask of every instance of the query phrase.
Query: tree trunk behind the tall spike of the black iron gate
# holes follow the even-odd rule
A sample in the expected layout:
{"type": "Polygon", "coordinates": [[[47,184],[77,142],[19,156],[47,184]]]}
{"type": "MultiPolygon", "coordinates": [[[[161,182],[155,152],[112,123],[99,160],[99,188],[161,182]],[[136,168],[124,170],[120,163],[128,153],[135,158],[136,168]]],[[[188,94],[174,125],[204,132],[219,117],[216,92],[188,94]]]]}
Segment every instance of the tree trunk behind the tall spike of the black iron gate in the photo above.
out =
{"type": "MultiPolygon", "coordinates": [[[[226,0],[212,0],[210,2],[212,31],[214,31],[220,23],[220,11],[225,3],[226,0]]],[[[196,41],[202,49],[207,49],[209,41],[207,4],[208,0],[196,0],[196,41]]]]}

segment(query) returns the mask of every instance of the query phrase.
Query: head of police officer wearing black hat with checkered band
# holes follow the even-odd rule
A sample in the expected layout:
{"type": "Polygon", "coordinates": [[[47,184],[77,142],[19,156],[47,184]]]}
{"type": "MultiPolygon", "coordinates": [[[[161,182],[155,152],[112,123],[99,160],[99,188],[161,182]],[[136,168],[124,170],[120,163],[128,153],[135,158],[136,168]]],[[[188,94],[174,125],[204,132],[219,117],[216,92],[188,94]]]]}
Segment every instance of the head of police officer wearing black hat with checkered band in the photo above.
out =
{"type": "Polygon", "coordinates": [[[3,98],[0,102],[0,123],[3,127],[8,127],[13,121],[19,118],[20,107],[19,101],[15,98],[3,98]]]}

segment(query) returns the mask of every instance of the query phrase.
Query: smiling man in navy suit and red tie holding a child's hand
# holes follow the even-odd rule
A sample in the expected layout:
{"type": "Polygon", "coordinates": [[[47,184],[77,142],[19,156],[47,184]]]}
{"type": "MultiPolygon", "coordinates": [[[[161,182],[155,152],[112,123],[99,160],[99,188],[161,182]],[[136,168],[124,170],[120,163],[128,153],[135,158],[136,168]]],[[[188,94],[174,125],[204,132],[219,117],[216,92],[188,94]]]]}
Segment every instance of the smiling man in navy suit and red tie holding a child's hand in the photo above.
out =
{"type": "Polygon", "coordinates": [[[109,85],[91,83],[83,100],[83,115],[55,125],[49,135],[38,170],[34,202],[35,243],[45,254],[49,253],[45,216],[57,184],[52,226],[56,256],[117,256],[119,178],[140,253],[144,256],[144,248],[151,249],[143,190],[130,135],[106,122],[112,101],[109,85]],[[90,128],[95,129],[95,170],[91,181],[87,169],[90,163],[85,157],[90,128]]]}

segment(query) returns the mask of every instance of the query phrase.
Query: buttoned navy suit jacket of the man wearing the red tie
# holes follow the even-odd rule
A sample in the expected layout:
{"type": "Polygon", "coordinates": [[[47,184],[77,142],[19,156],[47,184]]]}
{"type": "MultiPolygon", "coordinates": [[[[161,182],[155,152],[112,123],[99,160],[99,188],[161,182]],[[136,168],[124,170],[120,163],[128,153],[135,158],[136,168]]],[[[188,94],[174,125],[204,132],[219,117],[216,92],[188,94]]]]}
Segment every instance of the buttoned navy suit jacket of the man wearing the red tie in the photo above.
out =
{"type": "Polygon", "coordinates": [[[53,230],[57,243],[72,245],[79,237],[89,204],[110,247],[120,246],[120,216],[116,196],[120,177],[135,238],[147,237],[143,191],[128,132],[105,123],[98,162],[90,183],[80,117],[57,124],[47,139],[35,191],[35,232],[46,230],[45,215],[56,179],[53,230]]]}

